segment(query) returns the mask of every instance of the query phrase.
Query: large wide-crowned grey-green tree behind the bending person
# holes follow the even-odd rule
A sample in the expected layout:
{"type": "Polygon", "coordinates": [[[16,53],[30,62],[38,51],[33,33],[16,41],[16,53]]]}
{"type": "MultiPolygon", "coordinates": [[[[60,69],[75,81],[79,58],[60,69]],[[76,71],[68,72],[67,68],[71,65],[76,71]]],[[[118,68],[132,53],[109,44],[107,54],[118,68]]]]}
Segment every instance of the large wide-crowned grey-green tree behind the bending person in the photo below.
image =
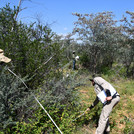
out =
{"type": "Polygon", "coordinates": [[[111,67],[116,59],[120,35],[117,21],[113,20],[113,13],[73,15],[78,17],[73,32],[78,33],[79,39],[84,42],[83,54],[88,56],[90,70],[97,72],[104,67],[111,67]]]}

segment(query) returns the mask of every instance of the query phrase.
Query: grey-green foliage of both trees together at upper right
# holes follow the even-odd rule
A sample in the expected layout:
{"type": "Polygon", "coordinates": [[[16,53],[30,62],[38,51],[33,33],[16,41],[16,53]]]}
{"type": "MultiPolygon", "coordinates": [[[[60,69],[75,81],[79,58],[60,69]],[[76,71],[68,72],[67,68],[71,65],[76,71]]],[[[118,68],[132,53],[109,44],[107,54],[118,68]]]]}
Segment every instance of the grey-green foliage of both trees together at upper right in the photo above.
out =
{"type": "Polygon", "coordinates": [[[133,76],[133,12],[120,21],[114,20],[112,12],[79,14],[73,32],[82,40],[79,48],[81,63],[91,72],[102,73],[109,70],[115,62],[126,67],[126,74],[133,76]],[[117,26],[118,22],[118,26],[117,26]]]}

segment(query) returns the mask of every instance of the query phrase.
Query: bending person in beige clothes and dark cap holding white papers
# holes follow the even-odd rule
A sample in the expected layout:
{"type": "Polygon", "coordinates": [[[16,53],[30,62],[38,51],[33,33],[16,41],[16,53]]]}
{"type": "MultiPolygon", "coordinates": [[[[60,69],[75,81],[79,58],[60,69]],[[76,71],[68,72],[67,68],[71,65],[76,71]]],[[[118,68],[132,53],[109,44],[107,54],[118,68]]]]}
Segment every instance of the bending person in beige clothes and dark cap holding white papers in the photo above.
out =
{"type": "Polygon", "coordinates": [[[103,103],[103,108],[98,122],[98,127],[95,134],[110,133],[109,115],[113,107],[120,101],[120,95],[113,88],[113,86],[104,80],[102,77],[94,77],[90,79],[96,93],[96,99],[86,111],[91,110],[98,104],[99,101],[103,103]]]}

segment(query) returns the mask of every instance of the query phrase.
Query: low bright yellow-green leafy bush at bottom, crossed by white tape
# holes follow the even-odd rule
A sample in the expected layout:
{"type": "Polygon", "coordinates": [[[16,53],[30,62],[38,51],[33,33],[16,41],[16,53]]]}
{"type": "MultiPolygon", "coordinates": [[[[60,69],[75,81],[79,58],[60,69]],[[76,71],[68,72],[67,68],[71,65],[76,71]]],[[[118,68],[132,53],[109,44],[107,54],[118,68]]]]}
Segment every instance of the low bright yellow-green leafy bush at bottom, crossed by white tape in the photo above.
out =
{"type": "MultiPolygon", "coordinates": [[[[46,109],[46,107],[45,107],[46,109]]],[[[64,133],[71,133],[75,129],[72,111],[70,109],[64,109],[61,110],[51,107],[46,109],[51,117],[54,119],[55,123],[58,125],[60,130],[64,133]]],[[[15,133],[59,133],[57,128],[54,126],[52,121],[48,118],[48,116],[42,111],[42,109],[39,109],[36,111],[36,114],[33,115],[33,118],[29,120],[29,123],[26,122],[18,122],[17,126],[15,127],[15,133]],[[35,119],[34,119],[35,118],[35,119]]]]}

